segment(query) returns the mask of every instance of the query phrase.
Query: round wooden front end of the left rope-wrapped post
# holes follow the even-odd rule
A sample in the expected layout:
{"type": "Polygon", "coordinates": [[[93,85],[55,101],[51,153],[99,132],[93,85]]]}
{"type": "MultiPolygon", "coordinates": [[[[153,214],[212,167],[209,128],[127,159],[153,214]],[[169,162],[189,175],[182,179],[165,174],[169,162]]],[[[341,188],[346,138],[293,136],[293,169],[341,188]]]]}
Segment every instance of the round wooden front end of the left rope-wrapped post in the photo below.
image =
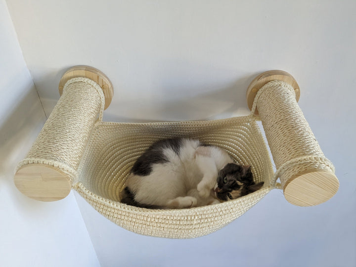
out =
{"type": "Polygon", "coordinates": [[[70,178],[59,169],[45,164],[29,164],[14,177],[15,185],[24,195],[41,201],[65,198],[72,189],[70,178]]]}

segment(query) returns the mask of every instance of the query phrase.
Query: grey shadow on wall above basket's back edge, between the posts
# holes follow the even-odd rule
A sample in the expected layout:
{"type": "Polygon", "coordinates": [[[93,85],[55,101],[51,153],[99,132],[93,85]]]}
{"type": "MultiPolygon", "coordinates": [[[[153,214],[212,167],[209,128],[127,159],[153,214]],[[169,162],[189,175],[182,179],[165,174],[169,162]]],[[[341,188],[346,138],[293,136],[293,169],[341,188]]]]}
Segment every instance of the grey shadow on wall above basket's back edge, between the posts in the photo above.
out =
{"type": "MultiPolygon", "coordinates": [[[[246,90],[257,74],[246,75],[233,83],[214,88],[195,88],[198,93],[192,97],[182,96],[173,100],[150,99],[144,103],[127,101],[116,95],[111,105],[120,114],[114,114],[110,107],[104,112],[104,121],[115,122],[157,122],[182,120],[212,120],[249,114],[246,90]],[[116,100],[116,101],[115,101],[116,100]]],[[[174,92],[174,90],[171,90],[174,92]]],[[[179,91],[179,89],[176,89],[179,91]]],[[[115,94],[120,92],[115,91],[115,94]]]]}

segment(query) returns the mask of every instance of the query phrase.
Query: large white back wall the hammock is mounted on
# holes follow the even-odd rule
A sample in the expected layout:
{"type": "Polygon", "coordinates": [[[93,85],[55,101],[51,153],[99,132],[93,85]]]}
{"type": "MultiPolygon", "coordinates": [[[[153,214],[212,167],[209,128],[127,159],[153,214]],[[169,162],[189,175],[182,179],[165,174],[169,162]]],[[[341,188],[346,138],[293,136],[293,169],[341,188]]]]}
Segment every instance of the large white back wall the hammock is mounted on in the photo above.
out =
{"type": "MultiPolygon", "coordinates": [[[[114,85],[104,118],[194,120],[247,112],[260,72],[290,72],[300,106],[340,180],[300,208],[273,190],[216,233],[167,240],[127,232],[78,197],[101,265],[356,266],[355,0],[7,0],[49,114],[77,64],[114,85]]],[[[56,205],[56,204],[54,204],[56,205]]]]}

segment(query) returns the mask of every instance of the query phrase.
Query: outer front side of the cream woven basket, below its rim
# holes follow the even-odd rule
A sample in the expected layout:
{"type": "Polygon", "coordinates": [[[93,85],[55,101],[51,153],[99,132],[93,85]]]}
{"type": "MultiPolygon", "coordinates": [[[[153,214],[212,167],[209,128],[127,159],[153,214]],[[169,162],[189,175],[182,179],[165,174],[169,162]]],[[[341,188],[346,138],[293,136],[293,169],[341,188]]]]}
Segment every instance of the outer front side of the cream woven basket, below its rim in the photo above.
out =
{"type": "Polygon", "coordinates": [[[199,208],[149,210],[102,198],[82,183],[74,188],[113,223],[135,233],[166,238],[194,238],[212,233],[244,214],[271,190],[265,187],[234,201],[199,208]]]}

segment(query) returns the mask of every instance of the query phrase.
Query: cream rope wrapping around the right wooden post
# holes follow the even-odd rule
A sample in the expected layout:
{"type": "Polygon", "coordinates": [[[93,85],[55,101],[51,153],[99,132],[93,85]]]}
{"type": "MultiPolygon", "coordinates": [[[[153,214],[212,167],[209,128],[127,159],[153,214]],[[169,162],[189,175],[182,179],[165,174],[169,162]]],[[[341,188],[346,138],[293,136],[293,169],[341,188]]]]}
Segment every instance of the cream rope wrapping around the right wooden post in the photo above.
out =
{"type": "Polygon", "coordinates": [[[258,108],[282,187],[299,174],[312,171],[334,173],[295,99],[291,85],[272,81],[257,93],[252,112],[258,108]]]}

